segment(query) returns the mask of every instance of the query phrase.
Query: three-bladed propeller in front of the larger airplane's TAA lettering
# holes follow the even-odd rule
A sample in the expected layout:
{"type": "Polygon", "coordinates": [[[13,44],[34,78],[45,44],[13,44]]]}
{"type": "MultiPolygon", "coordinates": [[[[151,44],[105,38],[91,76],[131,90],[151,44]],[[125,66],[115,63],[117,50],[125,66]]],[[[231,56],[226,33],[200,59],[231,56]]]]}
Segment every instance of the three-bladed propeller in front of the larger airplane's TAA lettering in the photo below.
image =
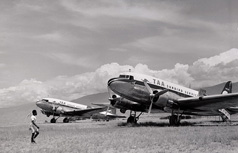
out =
{"type": "Polygon", "coordinates": [[[162,90],[162,91],[157,92],[156,94],[154,94],[154,93],[153,93],[153,90],[152,90],[152,89],[150,88],[150,86],[148,85],[147,80],[144,80],[143,82],[144,82],[144,85],[145,85],[147,91],[148,91],[149,94],[150,94],[150,101],[151,101],[151,102],[150,102],[150,107],[149,107],[149,111],[148,111],[148,113],[150,114],[151,109],[152,109],[153,102],[155,102],[155,101],[159,98],[159,96],[165,94],[165,93],[168,92],[169,90],[168,90],[168,89],[164,89],[164,90],[162,90]]]}

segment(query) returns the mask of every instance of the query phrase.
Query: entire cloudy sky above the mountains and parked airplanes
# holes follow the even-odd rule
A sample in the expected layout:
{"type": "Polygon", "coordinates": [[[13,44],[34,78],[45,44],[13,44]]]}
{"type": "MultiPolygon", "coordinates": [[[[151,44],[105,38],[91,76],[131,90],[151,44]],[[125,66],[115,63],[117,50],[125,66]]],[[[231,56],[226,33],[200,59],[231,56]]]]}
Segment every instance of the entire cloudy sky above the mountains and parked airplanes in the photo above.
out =
{"type": "Polygon", "coordinates": [[[0,108],[106,92],[131,69],[238,81],[237,0],[1,0],[0,108]]]}

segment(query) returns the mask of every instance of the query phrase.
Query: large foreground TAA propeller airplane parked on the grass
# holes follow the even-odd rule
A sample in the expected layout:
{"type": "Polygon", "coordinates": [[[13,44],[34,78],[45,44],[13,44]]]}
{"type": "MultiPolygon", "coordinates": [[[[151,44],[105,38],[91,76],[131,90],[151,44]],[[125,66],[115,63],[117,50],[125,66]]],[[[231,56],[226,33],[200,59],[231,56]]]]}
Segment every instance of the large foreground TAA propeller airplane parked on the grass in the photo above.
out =
{"type": "MultiPolygon", "coordinates": [[[[228,84],[228,88],[229,88],[228,84]]],[[[130,110],[127,123],[137,123],[142,113],[171,113],[169,124],[178,126],[182,115],[225,116],[238,105],[238,93],[229,93],[224,87],[222,94],[206,95],[159,78],[125,72],[108,81],[109,101],[121,113],[130,110]],[[134,112],[134,114],[133,114],[134,112]],[[136,113],[140,112],[138,116],[136,113]]]]}

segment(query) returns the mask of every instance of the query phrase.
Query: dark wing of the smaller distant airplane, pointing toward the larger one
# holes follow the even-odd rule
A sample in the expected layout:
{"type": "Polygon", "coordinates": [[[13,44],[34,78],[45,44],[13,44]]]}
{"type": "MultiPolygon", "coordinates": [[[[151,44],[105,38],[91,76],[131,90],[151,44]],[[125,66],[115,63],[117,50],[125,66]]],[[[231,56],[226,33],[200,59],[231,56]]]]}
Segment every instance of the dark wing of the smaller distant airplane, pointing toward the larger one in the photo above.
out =
{"type": "Polygon", "coordinates": [[[98,107],[98,108],[88,108],[83,110],[73,110],[73,111],[66,111],[64,115],[67,116],[91,116],[95,113],[99,113],[102,111],[107,110],[107,107],[98,107]]]}

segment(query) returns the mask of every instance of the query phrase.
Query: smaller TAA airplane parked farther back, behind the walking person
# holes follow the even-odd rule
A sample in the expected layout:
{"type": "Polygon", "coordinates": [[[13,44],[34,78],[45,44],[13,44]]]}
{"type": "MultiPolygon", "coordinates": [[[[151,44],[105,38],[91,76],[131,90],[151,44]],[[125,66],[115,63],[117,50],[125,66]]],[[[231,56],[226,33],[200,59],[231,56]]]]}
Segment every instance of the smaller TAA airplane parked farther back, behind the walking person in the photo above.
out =
{"type": "MultiPolygon", "coordinates": [[[[36,105],[41,108],[42,114],[46,115],[47,117],[49,117],[50,115],[53,116],[53,118],[50,120],[51,123],[55,123],[59,117],[65,117],[63,119],[63,122],[68,123],[70,117],[80,116],[90,118],[95,113],[103,113],[103,111],[105,110],[108,111],[108,107],[92,108],[87,105],[82,105],[55,98],[43,98],[37,101],[36,105]],[[58,116],[58,118],[55,118],[55,116],[58,116]]],[[[114,114],[111,113],[107,113],[107,115],[114,116],[114,114]]]]}

